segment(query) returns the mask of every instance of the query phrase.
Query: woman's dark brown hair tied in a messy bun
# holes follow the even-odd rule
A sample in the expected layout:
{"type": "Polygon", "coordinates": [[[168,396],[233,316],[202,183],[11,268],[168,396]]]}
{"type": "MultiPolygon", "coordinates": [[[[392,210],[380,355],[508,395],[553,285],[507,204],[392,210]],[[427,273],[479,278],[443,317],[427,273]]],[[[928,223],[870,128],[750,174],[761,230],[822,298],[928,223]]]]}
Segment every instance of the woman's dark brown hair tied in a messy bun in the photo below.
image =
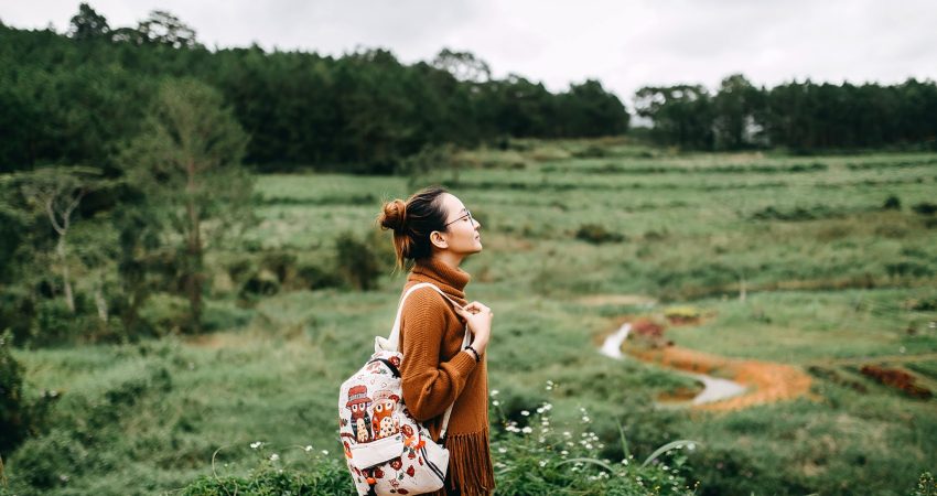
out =
{"type": "Polygon", "coordinates": [[[381,229],[394,230],[394,250],[397,252],[397,268],[405,269],[407,260],[422,260],[432,257],[430,233],[445,230],[446,213],[442,208],[442,194],[449,193],[442,186],[424,187],[403,202],[395,198],[384,204],[377,216],[381,229]]]}

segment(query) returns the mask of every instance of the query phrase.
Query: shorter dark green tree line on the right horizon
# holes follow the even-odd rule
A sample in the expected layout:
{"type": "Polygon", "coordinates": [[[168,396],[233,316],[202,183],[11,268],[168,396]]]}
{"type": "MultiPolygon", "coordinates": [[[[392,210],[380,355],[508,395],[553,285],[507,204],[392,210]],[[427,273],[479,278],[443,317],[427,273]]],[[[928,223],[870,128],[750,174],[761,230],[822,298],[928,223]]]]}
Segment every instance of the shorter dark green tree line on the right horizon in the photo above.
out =
{"type": "Polygon", "coordinates": [[[937,148],[937,85],[817,84],[755,87],[743,75],[714,93],[702,85],[647,86],[638,116],[658,142],[699,150],[937,148]]]}

